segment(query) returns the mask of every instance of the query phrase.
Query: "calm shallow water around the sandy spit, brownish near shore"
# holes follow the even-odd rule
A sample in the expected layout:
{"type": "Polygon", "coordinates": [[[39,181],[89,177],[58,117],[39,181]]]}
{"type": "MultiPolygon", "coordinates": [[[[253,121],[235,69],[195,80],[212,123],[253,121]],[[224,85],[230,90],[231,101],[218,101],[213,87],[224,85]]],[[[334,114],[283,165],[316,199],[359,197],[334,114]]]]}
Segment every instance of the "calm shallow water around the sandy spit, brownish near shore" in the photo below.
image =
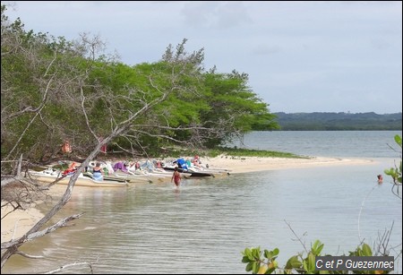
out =
{"type": "MultiPolygon", "coordinates": [[[[254,142],[248,137],[244,142],[253,145],[259,134],[253,133],[254,142]]],[[[266,134],[261,133],[262,141],[266,141],[266,134]]],[[[321,149],[309,155],[328,156],[322,149],[326,147],[323,137],[303,141],[304,134],[295,134],[299,144],[322,141],[316,146],[304,145],[321,149]]],[[[329,133],[328,138],[339,134],[349,133],[329,133]]],[[[356,133],[351,133],[354,150],[351,142],[339,150],[338,156],[373,160],[365,165],[185,179],[179,190],[158,184],[77,193],[58,214],[64,217],[83,212],[73,227],[23,246],[32,254],[38,254],[39,248],[46,258],[15,256],[2,273],[38,273],[71,262],[95,262],[94,273],[246,273],[241,262],[245,247],[279,247],[280,265],[303,252],[293,230],[306,246],[320,239],[324,253],[347,254],[362,240],[373,245],[379,234],[394,224],[390,244],[401,245],[401,200],[390,193],[387,176],[382,185],[376,183],[376,175],[393,166],[393,157],[399,155],[390,154],[385,145],[393,144],[392,133],[382,132],[378,138],[373,134],[363,133],[357,140],[356,133]],[[371,141],[373,144],[368,144],[371,141]],[[368,156],[368,150],[381,143],[385,148],[368,156]],[[359,148],[360,144],[364,147],[359,148]]],[[[270,138],[270,144],[287,147],[286,141],[292,141],[289,136],[278,138],[277,142],[270,138]]],[[[331,155],[337,149],[328,145],[328,150],[331,155]]]]}

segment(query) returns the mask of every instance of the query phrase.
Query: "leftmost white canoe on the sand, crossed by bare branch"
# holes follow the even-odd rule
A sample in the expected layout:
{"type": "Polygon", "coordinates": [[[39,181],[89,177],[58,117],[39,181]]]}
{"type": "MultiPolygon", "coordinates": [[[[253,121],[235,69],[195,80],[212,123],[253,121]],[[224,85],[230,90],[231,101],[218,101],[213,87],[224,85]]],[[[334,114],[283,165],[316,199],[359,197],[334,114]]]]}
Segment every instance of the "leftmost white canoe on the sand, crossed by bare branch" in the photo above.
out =
{"type": "MultiPolygon", "coordinates": [[[[62,173],[58,171],[54,172],[49,172],[49,170],[44,170],[44,171],[30,171],[29,176],[32,179],[38,180],[40,182],[44,183],[53,183],[56,181],[57,178],[62,177],[62,173]]],[[[57,182],[58,185],[68,185],[70,181],[70,176],[65,176],[61,180],[57,182]]],[[[77,181],[75,182],[75,186],[88,186],[88,187],[124,187],[127,186],[128,184],[126,182],[119,182],[119,181],[110,181],[110,180],[104,180],[104,181],[96,181],[88,176],[83,176],[82,173],[81,175],[77,178],[77,181]]]]}

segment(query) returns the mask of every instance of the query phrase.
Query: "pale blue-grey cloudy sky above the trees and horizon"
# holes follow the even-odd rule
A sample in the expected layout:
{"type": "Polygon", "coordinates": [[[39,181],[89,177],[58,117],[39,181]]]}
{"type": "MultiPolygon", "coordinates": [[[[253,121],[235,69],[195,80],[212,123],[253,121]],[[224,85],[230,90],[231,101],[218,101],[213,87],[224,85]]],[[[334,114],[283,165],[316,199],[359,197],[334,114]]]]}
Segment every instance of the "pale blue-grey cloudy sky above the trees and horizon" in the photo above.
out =
{"type": "Polygon", "coordinates": [[[401,1],[2,1],[25,30],[99,36],[124,64],[187,39],[272,113],[402,111],[401,1]]]}

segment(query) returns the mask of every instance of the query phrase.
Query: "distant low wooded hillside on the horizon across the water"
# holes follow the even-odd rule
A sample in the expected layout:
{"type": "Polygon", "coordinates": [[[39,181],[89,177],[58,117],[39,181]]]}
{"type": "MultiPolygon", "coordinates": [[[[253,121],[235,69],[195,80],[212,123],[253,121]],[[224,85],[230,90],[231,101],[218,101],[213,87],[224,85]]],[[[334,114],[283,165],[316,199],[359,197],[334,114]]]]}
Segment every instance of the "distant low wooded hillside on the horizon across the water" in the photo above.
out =
{"type": "Polygon", "coordinates": [[[402,130],[402,113],[273,113],[283,131],[402,130]]]}

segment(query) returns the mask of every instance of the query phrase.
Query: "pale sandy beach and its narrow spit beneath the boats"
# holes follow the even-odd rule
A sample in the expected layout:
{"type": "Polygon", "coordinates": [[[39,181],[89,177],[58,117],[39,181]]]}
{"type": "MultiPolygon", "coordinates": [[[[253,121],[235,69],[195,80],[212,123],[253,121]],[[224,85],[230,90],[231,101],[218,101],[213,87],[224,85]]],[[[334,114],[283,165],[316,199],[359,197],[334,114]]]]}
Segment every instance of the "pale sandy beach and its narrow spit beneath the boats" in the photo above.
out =
{"type": "MultiPolygon", "coordinates": [[[[372,159],[339,159],[339,158],[312,158],[312,159],[282,159],[282,158],[257,158],[257,157],[229,157],[219,156],[216,158],[201,158],[202,165],[209,165],[210,168],[227,169],[230,174],[250,173],[256,171],[287,169],[287,168],[313,168],[321,166],[337,166],[337,165],[367,165],[373,163],[372,159]]],[[[170,178],[167,180],[170,181],[170,178]]],[[[53,200],[60,198],[66,186],[54,185],[47,193],[51,194],[53,200]]],[[[74,191],[88,190],[81,189],[80,186],[75,186],[74,191]]],[[[56,203],[56,202],[55,202],[56,203]]],[[[54,205],[55,203],[49,203],[54,205]]],[[[3,205],[3,202],[2,202],[3,205]]],[[[7,209],[2,208],[1,215],[7,209]]],[[[25,234],[36,222],[43,217],[43,213],[35,208],[35,204],[29,209],[13,211],[2,219],[2,243],[18,238],[25,234]]]]}

